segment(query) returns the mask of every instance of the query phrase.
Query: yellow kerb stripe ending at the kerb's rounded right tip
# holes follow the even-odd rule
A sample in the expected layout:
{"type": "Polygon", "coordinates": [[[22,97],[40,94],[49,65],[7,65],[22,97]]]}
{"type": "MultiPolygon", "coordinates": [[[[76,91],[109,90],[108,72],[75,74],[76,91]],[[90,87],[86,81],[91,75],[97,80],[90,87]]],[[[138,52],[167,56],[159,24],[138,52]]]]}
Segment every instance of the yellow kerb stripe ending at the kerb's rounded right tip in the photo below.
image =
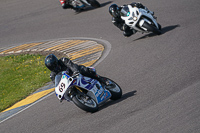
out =
{"type": "Polygon", "coordinates": [[[77,58],[80,58],[80,57],[83,57],[83,56],[86,56],[98,51],[103,51],[103,50],[104,50],[104,47],[102,45],[93,46],[93,47],[83,49],[74,53],[69,53],[68,56],[70,57],[71,60],[74,60],[74,59],[77,59],[77,58]]]}

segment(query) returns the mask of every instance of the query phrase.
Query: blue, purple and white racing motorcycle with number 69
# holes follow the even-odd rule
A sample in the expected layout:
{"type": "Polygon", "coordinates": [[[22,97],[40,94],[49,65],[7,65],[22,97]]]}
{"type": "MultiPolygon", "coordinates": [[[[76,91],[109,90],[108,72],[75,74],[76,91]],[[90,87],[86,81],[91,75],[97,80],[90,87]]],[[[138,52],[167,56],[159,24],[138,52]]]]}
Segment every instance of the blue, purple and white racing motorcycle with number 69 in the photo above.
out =
{"type": "MultiPolygon", "coordinates": [[[[96,72],[95,68],[92,70],[96,72]]],[[[109,82],[108,85],[80,73],[69,76],[67,71],[62,71],[55,77],[55,93],[60,102],[73,101],[84,111],[96,112],[99,105],[122,96],[122,90],[117,83],[109,78],[106,78],[106,82],[109,82]]]]}

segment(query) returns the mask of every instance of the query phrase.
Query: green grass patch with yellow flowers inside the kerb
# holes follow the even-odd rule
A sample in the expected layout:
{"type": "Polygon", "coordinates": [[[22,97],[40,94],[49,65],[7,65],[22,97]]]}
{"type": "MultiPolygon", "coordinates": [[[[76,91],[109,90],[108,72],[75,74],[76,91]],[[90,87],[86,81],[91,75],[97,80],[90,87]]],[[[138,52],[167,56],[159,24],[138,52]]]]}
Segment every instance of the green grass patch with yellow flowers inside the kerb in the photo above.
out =
{"type": "Polygon", "coordinates": [[[42,55],[0,57],[0,112],[51,81],[42,55]]]}

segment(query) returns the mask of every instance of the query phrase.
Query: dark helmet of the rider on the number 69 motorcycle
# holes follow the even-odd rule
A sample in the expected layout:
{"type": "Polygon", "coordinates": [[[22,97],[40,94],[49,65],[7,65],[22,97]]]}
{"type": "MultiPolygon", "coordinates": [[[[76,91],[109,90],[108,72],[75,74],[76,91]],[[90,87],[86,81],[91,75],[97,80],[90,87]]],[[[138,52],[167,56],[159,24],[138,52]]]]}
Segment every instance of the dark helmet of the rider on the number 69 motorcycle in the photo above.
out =
{"type": "Polygon", "coordinates": [[[58,58],[54,54],[50,54],[45,58],[46,67],[53,72],[57,72],[58,70],[58,58]]]}

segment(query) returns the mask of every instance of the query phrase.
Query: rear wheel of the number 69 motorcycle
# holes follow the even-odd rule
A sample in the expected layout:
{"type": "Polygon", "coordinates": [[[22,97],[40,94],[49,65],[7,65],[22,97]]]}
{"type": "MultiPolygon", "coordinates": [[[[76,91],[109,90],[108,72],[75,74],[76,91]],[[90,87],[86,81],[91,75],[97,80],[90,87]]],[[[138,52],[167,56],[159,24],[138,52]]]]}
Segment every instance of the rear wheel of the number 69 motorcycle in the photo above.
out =
{"type": "Polygon", "coordinates": [[[109,82],[111,82],[111,86],[106,86],[106,89],[108,89],[111,93],[111,97],[110,99],[111,100],[117,100],[117,99],[120,99],[122,97],[122,89],[121,87],[116,83],[114,82],[113,80],[109,79],[109,78],[106,78],[109,82]]]}

